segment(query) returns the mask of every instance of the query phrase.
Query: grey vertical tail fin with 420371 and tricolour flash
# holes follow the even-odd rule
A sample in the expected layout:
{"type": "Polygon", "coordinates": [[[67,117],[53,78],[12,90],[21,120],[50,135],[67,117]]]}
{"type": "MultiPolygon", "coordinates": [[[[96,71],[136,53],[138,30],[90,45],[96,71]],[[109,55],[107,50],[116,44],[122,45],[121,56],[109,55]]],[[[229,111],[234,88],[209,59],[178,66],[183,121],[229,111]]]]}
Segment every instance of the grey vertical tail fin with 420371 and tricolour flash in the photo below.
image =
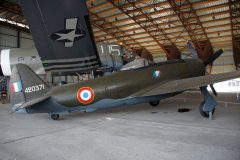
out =
{"type": "Polygon", "coordinates": [[[24,103],[44,97],[50,87],[25,64],[17,64],[10,78],[10,102],[16,110],[24,103]]]}

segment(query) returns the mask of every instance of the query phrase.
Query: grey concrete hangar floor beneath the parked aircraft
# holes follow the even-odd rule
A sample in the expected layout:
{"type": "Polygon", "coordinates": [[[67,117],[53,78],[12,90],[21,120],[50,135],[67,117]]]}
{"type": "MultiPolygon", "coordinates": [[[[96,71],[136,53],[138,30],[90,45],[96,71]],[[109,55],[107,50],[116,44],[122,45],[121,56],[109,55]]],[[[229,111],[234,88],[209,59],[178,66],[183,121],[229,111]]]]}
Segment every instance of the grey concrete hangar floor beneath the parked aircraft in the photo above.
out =
{"type": "Polygon", "coordinates": [[[240,104],[220,95],[214,119],[198,93],[148,104],[75,113],[12,114],[0,106],[0,160],[240,160],[240,104]],[[189,108],[179,113],[178,108],[189,108]]]}

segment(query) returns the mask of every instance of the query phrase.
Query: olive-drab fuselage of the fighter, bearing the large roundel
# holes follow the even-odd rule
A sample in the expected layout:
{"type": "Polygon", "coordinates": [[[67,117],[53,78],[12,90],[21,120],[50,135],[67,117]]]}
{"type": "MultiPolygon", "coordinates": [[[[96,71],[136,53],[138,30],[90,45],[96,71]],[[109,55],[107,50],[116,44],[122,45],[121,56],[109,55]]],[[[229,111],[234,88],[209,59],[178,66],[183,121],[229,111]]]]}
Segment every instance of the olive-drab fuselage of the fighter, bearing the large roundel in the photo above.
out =
{"type": "Polygon", "coordinates": [[[57,103],[66,107],[87,106],[103,99],[131,97],[132,94],[155,83],[164,84],[169,80],[203,75],[205,75],[205,66],[201,60],[172,60],[56,87],[52,90],[51,96],[57,103]]]}

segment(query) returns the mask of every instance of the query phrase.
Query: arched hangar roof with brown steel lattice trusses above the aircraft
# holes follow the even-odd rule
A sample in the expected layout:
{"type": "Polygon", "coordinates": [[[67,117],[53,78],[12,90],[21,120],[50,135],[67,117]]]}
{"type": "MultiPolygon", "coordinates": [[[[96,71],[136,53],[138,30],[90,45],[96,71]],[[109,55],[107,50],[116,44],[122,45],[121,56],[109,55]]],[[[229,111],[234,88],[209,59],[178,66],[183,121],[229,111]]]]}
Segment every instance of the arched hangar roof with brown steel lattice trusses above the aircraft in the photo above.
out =
{"type": "MultiPolygon", "coordinates": [[[[238,1],[88,0],[87,6],[97,43],[119,44],[140,54],[146,49],[166,60],[191,56],[191,40],[201,59],[225,49],[212,73],[232,71],[240,63],[238,1]]],[[[1,1],[0,15],[1,49],[34,45],[17,0],[1,1]]]]}

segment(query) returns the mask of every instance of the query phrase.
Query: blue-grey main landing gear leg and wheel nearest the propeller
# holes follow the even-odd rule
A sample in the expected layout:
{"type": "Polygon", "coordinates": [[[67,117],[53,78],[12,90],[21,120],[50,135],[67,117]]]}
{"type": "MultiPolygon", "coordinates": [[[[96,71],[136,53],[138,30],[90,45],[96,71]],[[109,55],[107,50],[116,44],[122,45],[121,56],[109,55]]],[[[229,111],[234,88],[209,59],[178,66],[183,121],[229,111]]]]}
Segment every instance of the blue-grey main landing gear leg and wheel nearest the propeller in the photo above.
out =
{"type": "Polygon", "coordinates": [[[212,119],[217,102],[213,96],[210,95],[206,86],[200,87],[200,90],[204,96],[204,101],[199,106],[199,112],[203,117],[212,119]]]}

